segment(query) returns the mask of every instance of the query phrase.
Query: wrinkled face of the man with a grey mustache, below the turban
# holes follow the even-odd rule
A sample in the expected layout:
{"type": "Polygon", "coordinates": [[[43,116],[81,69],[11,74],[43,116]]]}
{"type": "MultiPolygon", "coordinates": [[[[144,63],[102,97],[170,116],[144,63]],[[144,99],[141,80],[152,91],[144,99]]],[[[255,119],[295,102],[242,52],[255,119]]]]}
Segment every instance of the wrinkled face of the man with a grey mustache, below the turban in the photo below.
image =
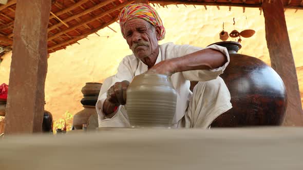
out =
{"type": "Polygon", "coordinates": [[[139,59],[148,57],[158,48],[158,28],[153,28],[144,19],[131,19],[124,24],[124,35],[129,49],[139,59]]]}

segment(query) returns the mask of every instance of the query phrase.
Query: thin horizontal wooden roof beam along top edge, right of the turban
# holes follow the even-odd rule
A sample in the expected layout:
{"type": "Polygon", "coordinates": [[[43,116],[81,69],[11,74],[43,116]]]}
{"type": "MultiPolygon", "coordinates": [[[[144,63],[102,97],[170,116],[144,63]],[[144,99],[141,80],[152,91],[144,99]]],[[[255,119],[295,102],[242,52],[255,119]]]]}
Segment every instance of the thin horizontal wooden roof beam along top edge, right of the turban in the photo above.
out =
{"type": "MultiPolygon", "coordinates": [[[[149,0],[149,3],[158,3],[165,5],[207,5],[207,6],[231,6],[231,7],[245,7],[245,8],[260,8],[262,4],[243,4],[243,3],[218,3],[218,2],[193,2],[193,1],[183,1],[183,0],[149,0]]],[[[303,6],[285,6],[288,9],[303,9],[303,6]]]]}

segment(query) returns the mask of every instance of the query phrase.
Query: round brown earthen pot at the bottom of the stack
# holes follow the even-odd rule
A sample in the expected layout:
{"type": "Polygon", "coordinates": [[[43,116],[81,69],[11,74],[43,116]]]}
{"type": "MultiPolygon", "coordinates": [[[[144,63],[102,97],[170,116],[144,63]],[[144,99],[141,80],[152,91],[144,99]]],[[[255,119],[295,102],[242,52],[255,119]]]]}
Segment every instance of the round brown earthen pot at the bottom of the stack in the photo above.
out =
{"type": "Polygon", "coordinates": [[[83,124],[87,124],[90,115],[97,114],[96,107],[83,105],[83,110],[73,116],[72,125],[76,130],[82,129],[83,124]]]}

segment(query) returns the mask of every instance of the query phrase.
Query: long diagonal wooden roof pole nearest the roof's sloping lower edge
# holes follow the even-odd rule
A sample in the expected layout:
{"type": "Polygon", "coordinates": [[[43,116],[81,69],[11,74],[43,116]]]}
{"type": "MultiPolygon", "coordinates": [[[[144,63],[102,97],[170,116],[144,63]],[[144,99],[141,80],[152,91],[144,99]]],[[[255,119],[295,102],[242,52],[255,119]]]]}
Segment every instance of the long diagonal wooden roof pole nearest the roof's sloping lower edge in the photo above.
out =
{"type": "Polygon", "coordinates": [[[134,3],[134,1],[129,1],[129,2],[120,4],[120,5],[116,6],[115,8],[109,9],[109,10],[107,10],[106,12],[102,12],[101,14],[99,14],[99,15],[93,17],[93,18],[90,18],[90,19],[85,20],[85,22],[79,23],[79,24],[77,24],[77,25],[75,25],[75,26],[73,26],[73,27],[70,27],[70,28],[66,29],[66,30],[62,30],[61,32],[56,33],[56,34],[54,34],[53,36],[48,37],[48,40],[54,39],[54,38],[56,38],[56,37],[58,37],[58,36],[60,36],[60,35],[62,35],[62,34],[64,34],[64,33],[67,33],[67,32],[69,32],[69,31],[72,31],[72,30],[74,30],[74,29],[77,29],[77,28],[79,28],[79,27],[82,27],[84,24],[88,24],[88,23],[90,23],[90,22],[93,22],[94,20],[103,17],[103,16],[106,15],[107,13],[110,13],[110,12],[113,12],[113,11],[116,11],[116,10],[119,10],[120,8],[123,8],[124,6],[129,5],[129,4],[132,4],[132,3],[134,3]]]}

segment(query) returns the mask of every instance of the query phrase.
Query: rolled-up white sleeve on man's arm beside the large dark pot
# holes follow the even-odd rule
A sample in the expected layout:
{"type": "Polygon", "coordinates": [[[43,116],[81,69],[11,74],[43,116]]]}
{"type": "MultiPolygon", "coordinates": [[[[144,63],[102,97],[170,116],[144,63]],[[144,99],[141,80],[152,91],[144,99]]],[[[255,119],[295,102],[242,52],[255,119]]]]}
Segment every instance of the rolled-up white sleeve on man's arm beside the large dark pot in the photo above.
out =
{"type": "MultiPolygon", "coordinates": [[[[209,81],[209,80],[216,79],[220,74],[223,73],[223,71],[229,65],[229,62],[230,62],[230,55],[229,55],[227,49],[225,47],[218,46],[218,45],[212,45],[212,46],[206,47],[205,49],[209,49],[209,48],[223,53],[228,61],[225,62],[223,66],[216,68],[216,69],[212,69],[212,70],[184,71],[184,72],[182,72],[182,74],[185,77],[185,79],[190,80],[190,81],[209,81]]],[[[188,46],[184,55],[191,54],[191,53],[197,52],[199,50],[203,50],[203,48],[188,46]]]]}

